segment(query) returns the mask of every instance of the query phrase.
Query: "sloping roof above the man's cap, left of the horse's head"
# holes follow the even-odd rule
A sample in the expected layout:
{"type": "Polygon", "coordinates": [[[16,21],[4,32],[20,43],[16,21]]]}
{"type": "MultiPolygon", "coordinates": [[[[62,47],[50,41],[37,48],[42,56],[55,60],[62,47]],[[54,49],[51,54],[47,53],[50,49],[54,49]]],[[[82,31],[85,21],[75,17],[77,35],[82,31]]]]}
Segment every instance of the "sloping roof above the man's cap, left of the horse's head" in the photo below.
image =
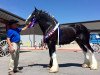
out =
{"type": "Polygon", "coordinates": [[[25,19],[22,17],[19,17],[11,12],[8,12],[2,8],[0,8],[0,34],[6,33],[6,26],[7,22],[11,19],[18,20],[19,25],[22,25],[25,23],[25,19]]]}

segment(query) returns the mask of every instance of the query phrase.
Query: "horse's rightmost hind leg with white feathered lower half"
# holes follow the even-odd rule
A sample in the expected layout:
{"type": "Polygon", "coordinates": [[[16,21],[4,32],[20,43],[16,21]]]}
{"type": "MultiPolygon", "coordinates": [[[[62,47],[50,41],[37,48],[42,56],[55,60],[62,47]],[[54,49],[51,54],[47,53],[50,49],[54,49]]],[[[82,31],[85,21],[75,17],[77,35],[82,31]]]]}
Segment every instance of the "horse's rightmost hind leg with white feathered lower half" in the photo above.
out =
{"type": "Polygon", "coordinates": [[[89,54],[90,54],[90,66],[89,67],[91,70],[95,70],[98,68],[98,64],[97,64],[97,60],[94,56],[94,50],[91,48],[89,43],[87,43],[85,45],[85,47],[88,49],[89,54]]]}

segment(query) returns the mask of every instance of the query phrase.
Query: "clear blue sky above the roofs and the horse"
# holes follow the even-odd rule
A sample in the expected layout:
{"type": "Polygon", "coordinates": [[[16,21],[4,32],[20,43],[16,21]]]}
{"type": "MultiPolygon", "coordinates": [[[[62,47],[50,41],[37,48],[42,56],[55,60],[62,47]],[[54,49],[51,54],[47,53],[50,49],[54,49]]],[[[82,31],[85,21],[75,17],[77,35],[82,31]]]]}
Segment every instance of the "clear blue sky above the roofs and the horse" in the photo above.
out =
{"type": "Polygon", "coordinates": [[[0,8],[24,19],[34,7],[53,15],[59,23],[100,20],[100,0],[0,0],[0,8]]]}

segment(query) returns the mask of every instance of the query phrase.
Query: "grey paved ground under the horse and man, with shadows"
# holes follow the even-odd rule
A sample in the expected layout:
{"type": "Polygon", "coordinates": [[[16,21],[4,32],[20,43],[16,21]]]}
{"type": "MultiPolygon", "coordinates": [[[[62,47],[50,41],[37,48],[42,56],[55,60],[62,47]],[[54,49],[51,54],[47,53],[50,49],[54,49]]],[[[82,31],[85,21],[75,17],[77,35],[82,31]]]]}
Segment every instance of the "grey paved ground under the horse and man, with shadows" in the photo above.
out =
{"type": "MultiPolygon", "coordinates": [[[[82,68],[83,53],[81,51],[58,50],[59,72],[49,73],[48,50],[22,50],[20,53],[19,66],[23,67],[16,75],[100,75],[100,53],[95,53],[98,60],[98,70],[82,68]]],[[[8,75],[7,57],[0,57],[0,75],[8,75]]]]}

